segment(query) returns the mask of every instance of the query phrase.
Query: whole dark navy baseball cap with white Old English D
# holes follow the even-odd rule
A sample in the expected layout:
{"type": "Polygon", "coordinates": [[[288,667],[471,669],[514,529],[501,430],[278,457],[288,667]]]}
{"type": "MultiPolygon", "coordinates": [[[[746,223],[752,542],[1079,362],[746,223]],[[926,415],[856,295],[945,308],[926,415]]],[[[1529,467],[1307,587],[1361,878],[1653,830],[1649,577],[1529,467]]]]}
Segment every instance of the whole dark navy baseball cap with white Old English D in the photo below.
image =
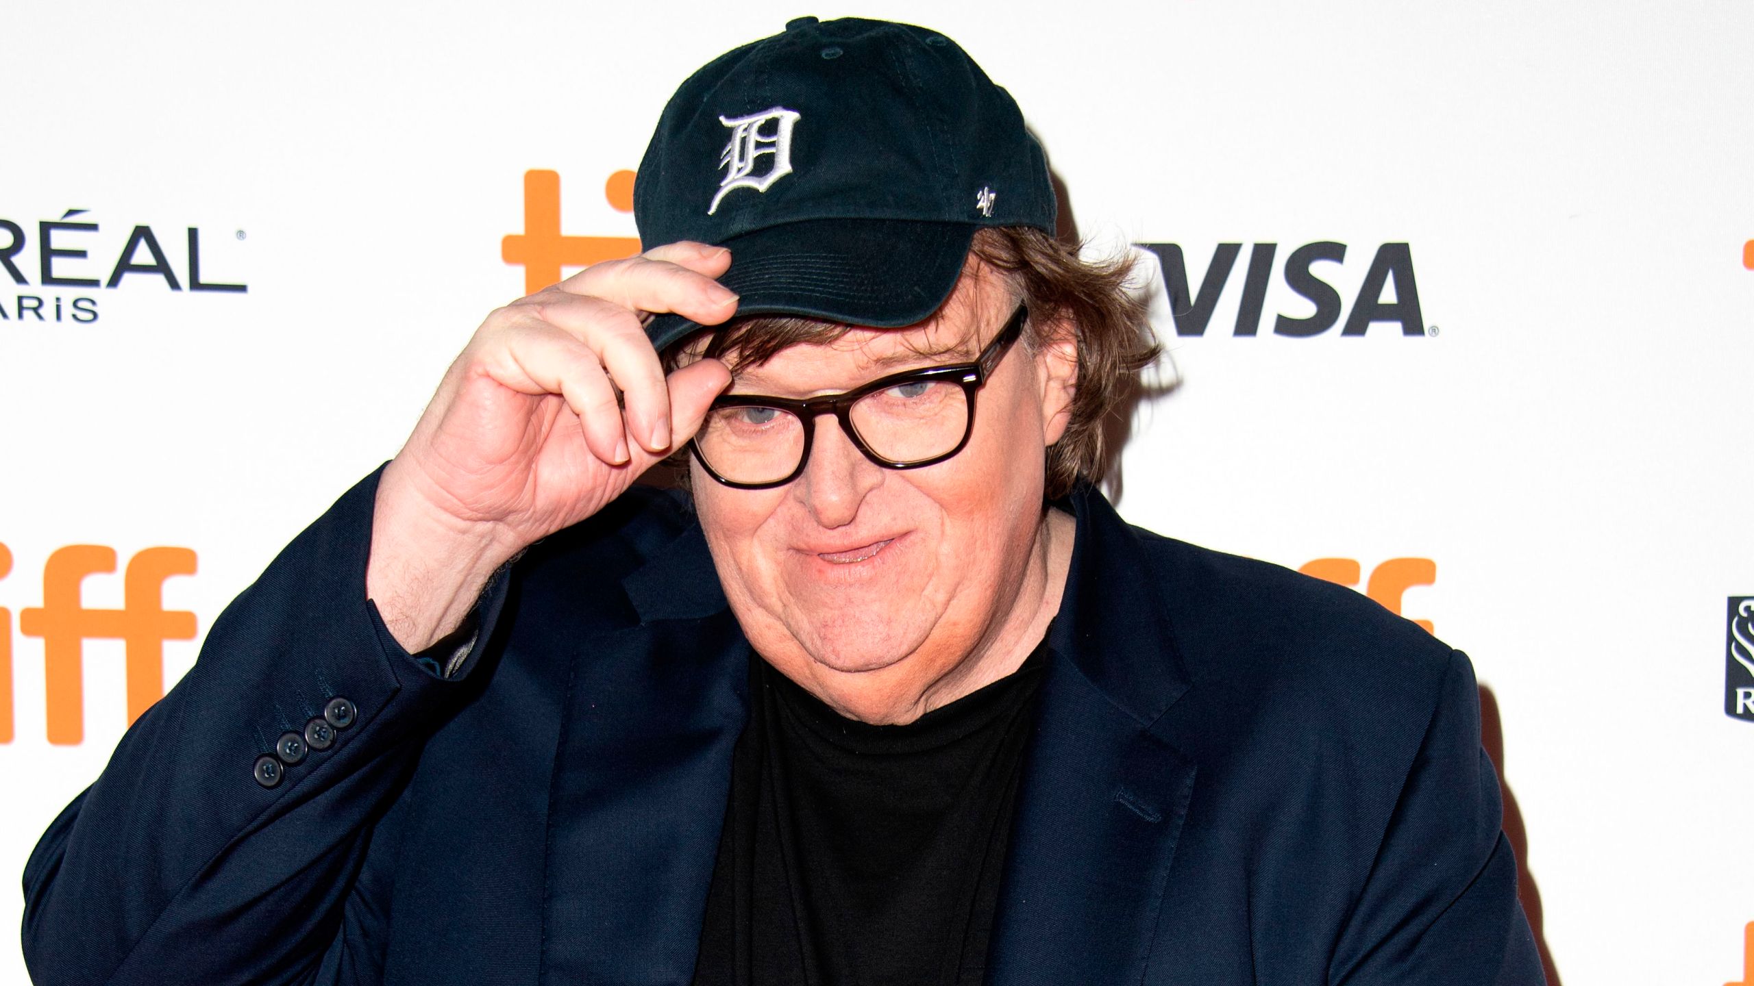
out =
{"type": "MultiPolygon", "coordinates": [[[[640,242],[731,251],[738,314],[898,328],[935,312],[980,226],[1054,232],[1016,100],[928,28],[798,18],[670,96],[633,184],[640,242]]],[[[652,346],[698,328],[660,314],[652,346]]]]}

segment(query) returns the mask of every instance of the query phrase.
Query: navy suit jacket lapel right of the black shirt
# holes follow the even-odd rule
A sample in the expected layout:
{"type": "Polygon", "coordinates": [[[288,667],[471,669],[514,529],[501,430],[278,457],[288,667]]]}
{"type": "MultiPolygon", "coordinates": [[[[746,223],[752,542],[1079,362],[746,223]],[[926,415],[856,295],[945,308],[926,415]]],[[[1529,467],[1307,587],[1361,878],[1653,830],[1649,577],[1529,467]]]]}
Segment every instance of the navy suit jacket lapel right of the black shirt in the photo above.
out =
{"type": "Polygon", "coordinates": [[[1140,982],[1194,763],[1159,739],[1187,689],[1137,535],[1089,488],[1049,637],[993,928],[993,986],[1140,982]]]}

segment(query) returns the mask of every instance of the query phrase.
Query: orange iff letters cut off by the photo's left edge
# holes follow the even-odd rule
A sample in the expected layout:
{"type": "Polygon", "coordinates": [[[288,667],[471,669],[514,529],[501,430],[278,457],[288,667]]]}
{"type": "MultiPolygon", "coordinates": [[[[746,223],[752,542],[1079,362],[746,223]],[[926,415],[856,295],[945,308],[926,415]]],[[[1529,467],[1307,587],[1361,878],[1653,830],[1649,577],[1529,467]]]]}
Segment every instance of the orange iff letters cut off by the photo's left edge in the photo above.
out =
{"type": "MultiPolygon", "coordinates": [[[[12,572],[12,551],[0,544],[0,579],[12,572]]],[[[147,547],[128,560],[121,609],[86,609],[86,575],[116,572],[116,549],[74,544],[42,567],[42,605],[19,612],[25,637],[42,639],[44,702],[49,742],[72,746],[86,737],[84,642],[123,640],[128,725],[165,697],[165,640],[193,640],[195,614],[167,611],[165,579],[195,574],[188,547],[147,547]]],[[[12,614],[0,607],[0,742],[12,742],[12,614]]]]}

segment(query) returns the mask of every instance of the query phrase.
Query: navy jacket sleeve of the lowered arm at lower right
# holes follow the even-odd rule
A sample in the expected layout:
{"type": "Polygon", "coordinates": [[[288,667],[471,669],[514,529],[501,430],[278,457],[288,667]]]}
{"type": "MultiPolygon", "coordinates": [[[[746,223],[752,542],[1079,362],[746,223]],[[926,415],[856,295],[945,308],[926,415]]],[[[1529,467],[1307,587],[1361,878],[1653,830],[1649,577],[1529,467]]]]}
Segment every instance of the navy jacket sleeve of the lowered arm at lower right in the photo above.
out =
{"type": "Polygon", "coordinates": [[[1473,667],[1454,653],[1370,877],[1333,954],[1335,986],[1540,986],[1517,902],[1473,667]]]}

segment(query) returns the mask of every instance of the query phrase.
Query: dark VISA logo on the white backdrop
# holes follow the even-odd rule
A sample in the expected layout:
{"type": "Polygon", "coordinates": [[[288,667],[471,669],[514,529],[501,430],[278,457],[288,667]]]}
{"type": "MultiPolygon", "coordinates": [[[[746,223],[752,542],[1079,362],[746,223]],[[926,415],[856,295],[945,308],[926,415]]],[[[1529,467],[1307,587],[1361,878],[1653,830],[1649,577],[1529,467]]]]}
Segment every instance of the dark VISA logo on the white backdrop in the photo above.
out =
{"type": "MultiPolygon", "coordinates": [[[[1212,323],[1219,298],[1230,284],[1231,268],[1242,254],[1244,244],[1217,244],[1212,260],[1200,279],[1200,289],[1189,288],[1187,261],[1180,244],[1137,244],[1158,254],[1163,267],[1163,286],[1170,295],[1170,312],[1175,318],[1177,337],[1201,337],[1212,323]]],[[[1330,240],[1303,244],[1286,254],[1280,277],[1286,288],[1316,305],[1310,316],[1273,318],[1272,333],[1307,339],[1321,335],[1340,325],[1342,311],[1347,311],[1340,291],[1317,275],[1317,263],[1344,263],[1345,244],[1330,240]]],[[[1266,305],[1268,288],[1273,277],[1273,260],[1279,256],[1279,244],[1254,244],[1249,251],[1249,267],[1242,275],[1242,297],[1237,302],[1237,321],[1231,335],[1259,335],[1261,312],[1266,305]]],[[[1435,335],[1426,330],[1424,314],[1419,311],[1419,286],[1414,281],[1414,256],[1407,244],[1382,244],[1370,260],[1365,281],[1359,284],[1340,335],[1365,335],[1377,323],[1398,325],[1401,335],[1435,335]],[[1393,300],[1382,295],[1393,286],[1393,300]]]]}

